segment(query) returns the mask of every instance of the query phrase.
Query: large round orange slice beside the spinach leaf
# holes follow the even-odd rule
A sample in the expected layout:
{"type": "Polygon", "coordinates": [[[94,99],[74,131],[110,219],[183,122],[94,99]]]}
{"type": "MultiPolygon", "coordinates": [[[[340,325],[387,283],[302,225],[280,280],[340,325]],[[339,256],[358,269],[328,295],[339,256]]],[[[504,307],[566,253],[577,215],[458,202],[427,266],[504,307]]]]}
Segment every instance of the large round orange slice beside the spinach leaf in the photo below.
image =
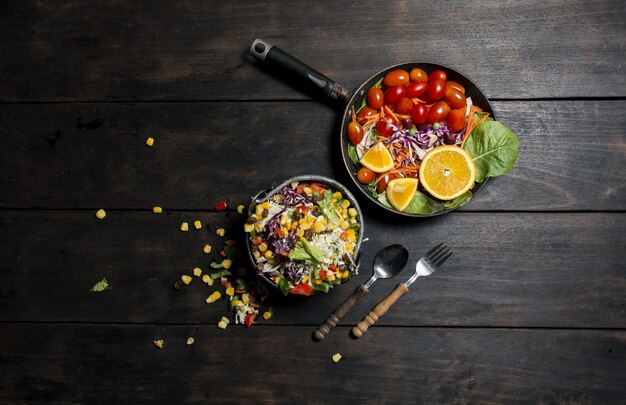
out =
{"type": "Polygon", "coordinates": [[[452,200],[474,186],[476,166],[462,148],[442,145],[433,148],[422,159],[420,183],[433,197],[452,200]]]}

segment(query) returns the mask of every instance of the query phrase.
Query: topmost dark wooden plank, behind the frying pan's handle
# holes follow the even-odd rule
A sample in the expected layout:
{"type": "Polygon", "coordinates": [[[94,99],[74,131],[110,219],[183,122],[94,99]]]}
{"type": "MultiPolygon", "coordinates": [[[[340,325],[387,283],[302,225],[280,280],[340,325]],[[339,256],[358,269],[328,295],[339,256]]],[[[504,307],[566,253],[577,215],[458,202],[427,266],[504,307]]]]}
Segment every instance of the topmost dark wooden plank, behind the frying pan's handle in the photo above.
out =
{"type": "Polygon", "coordinates": [[[0,5],[1,101],[306,98],[247,60],[256,37],[348,88],[436,61],[494,98],[623,97],[619,0],[0,5]],[[391,28],[390,28],[391,27],[391,28]],[[346,45],[349,44],[349,45],[346,45]]]}

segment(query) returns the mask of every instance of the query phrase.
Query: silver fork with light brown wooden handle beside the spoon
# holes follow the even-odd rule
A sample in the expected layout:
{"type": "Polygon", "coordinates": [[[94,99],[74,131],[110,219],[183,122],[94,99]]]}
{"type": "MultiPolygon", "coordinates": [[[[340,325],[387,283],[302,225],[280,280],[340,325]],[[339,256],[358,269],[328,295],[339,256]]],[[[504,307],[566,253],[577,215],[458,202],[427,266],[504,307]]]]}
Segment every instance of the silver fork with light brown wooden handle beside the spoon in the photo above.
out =
{"type": "Polygon", "coordinates": [[[365,315],[363,320],[352,328],[352,334],[357,338],[363,336],[363,334],[367,332],[367,329],[374,325],[376,321],[391,308],[398,298],[409,291],[409,286],[413,284],[415,280],[433,274],[450,256],[452,256],[452,251],[443,243],[430,249],[428,253],[415,264],[415,273],[413,273],[411,278],[398,284],[398,286],[380,301],[369,314],[365,315]]]}

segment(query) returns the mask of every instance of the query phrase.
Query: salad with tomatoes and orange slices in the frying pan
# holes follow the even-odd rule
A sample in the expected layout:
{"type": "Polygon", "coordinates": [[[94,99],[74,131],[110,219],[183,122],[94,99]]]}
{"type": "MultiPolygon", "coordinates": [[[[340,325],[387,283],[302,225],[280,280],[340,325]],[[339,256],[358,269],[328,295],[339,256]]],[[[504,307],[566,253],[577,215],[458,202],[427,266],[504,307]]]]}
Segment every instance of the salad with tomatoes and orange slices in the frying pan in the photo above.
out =
{"type": "Polygon", "coordinates": [[[466,204],[477,183],[507,173],[517,158],[515,134],[483,108],[444,69],[387,72],[345,128],[352,174],[398,212],[466,204]]]}

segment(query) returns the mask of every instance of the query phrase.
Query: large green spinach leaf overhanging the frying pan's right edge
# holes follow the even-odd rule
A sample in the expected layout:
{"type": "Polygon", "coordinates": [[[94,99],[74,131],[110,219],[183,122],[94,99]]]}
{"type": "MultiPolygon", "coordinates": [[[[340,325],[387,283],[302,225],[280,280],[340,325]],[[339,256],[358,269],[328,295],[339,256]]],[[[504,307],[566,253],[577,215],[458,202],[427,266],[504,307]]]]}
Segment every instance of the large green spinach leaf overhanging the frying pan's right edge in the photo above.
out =
{"type": "Polygon", "coordinates": [[[474,128],[465,150],[474,159],[476,181],[501,176],[515,165],[519,143],[517,137],[498,121],[485,121],[474,128]]]}

